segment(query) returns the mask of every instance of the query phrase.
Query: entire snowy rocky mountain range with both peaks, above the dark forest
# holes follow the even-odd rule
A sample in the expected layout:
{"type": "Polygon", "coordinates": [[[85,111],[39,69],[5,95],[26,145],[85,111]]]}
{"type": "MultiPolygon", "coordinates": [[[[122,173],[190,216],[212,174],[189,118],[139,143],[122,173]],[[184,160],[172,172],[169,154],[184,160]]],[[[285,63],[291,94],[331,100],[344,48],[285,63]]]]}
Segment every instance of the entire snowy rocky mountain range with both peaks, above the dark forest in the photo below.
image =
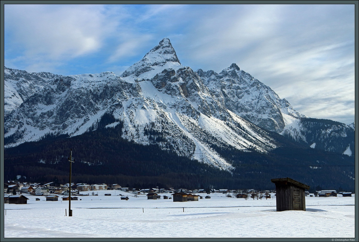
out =
{"type": "Polygon", "coordinates": [[[214,147],[265,153],[277,146],[266,130],[290,136],[290,124],[306,118],[236,64],[219,74],[181,65],[168,38],[120,76],[5,68],[5,147],[80,135],[105,114],[117,120],[107,126],[123,122],[123,138],[228,171],[233,167],[214,147]]]}

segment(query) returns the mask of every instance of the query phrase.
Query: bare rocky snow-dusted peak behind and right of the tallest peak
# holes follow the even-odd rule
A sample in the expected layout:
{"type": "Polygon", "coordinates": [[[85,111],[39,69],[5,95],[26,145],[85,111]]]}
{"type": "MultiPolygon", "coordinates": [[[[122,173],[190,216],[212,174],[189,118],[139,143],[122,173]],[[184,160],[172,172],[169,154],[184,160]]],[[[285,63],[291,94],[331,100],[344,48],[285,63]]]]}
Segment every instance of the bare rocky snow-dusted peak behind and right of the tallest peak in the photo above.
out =
{"type": "Polygon", "coordinates": [[[228,110],[267,130],[281,132],[284,129],[282,113],[293,117],[305,117],[295,111],[285,99],[269,87],[240,70],[236,64],[222,70],[199,69],[197,73],[228,110]]]}

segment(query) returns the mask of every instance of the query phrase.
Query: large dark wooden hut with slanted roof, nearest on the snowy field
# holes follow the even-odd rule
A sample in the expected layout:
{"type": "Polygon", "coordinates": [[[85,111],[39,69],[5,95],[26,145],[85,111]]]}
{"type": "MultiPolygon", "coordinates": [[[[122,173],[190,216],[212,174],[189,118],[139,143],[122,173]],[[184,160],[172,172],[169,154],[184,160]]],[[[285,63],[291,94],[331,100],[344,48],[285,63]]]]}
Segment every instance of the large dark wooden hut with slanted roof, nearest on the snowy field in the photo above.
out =
{"type": "Polygon", "coordinates": [[[277,211],[306,211],[304,190],[309,189],[310,186],[289,177],[271,179],[271,182],[275,183],[277,211]]]}

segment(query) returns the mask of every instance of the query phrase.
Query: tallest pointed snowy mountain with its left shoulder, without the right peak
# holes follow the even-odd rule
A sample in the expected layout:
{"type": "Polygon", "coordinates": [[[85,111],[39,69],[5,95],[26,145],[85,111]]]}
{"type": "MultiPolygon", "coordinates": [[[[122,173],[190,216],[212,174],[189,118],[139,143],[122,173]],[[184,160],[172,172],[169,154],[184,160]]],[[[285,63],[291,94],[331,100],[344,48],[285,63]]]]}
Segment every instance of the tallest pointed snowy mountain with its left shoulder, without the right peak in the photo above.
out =
{"type": "Polygon", "coordinates": [[[8,108],[6,147],[48,133],[82,134],[104,113],[123,121],[124,138],[150,144],[154,141],[145,133],[155,132],[163,149],[227,170],[232,167],[211,145],[260,152],[276,147],[266,131],[227,110],[196,72],[182,66],[167,38],[122,77],[111,72],[53,76],[20,106],[8,108]]]}

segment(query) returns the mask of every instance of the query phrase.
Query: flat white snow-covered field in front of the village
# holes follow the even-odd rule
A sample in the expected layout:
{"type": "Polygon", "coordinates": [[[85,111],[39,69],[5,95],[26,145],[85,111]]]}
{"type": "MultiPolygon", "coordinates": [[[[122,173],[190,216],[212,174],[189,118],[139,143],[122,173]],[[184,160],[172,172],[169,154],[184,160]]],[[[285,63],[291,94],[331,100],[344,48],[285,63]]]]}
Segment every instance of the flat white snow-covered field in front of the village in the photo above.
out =
{"type": "MultiPolygon", "coordinates": [[[[170,194],[147,200],[146,195],[122,191],[94,192],[98,196],[71,201],[73,217],[65,217],[68,201],[23,194],[29,198],[27,204],[4,204],[5,238],[355,237],[355,197],[307,196],[307,211],[277,212],[274,196],[245,200],[210,194],[210,199],[181,203],[163,199],[170,194]],[[121,200],[119,194],[129,200],[121,200]]],[[[92,191],[83,192],[88,193],[92,191]]]]}

